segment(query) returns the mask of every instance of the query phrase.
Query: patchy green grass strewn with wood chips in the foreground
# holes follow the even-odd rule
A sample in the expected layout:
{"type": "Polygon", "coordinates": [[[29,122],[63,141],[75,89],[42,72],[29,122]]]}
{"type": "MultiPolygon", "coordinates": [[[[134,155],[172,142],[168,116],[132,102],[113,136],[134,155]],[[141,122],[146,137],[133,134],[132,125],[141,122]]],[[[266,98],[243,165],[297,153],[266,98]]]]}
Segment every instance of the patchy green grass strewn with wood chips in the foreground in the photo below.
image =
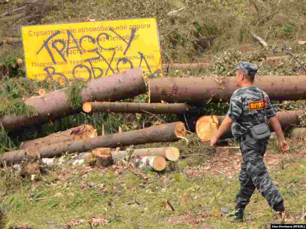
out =
{"type": "MultiPolygon", "coordinates": [[[[206,160],[210,157],[206,156],[206,160]]],[[[189,158],[182,160],[188,161],[189,158]]],[[[181,164],[182,164],[181,162],[181,164]]],[[[305,196],[305,158],[285,162],[285,168],[269,167],[274,183],[285,199],[289,219],[301,214],[305,196]]],[[[156,173],[148,169],[117,169],[78,166],[55,171],[55,179],[46,183],[23,180],[20,189],[9,191],[1,203],[5,227],[28,224],[35,228],[53,225],[65,227],[82,221],[72,228],[90,228],[88,222],[99,215],[96,228],[231,228],[247,227],[246,223],[232,224],[220,215],[220,207],[234,206],[239,191],[238,171],[232,178],[213,175],[201,163],[188,173],[185,166],[175,171],[156,173]],[[78,171],[79,173],[77,173],[78,171]],[[86,173],[84,173],[86,172],[86,173]],[[149,178],[137,176],[144,174],[149,178]],[[163,201],[173,205],[173,212],[163,201]],[[78,221],[77,221],[78,220],[78,221]],[[86,223],[87,222],[87,223],[86,223]],[[187,224],[190,224],[189,226],[187,224]]],[[[266,200],[257,191],[246,208],[248,228],[265,228],[275,216],[266,200]]],[[[299,217],[300,218],[300,217],[299,217]]],[[[297,223],[302,223],[297,219],[297,223]]]]}

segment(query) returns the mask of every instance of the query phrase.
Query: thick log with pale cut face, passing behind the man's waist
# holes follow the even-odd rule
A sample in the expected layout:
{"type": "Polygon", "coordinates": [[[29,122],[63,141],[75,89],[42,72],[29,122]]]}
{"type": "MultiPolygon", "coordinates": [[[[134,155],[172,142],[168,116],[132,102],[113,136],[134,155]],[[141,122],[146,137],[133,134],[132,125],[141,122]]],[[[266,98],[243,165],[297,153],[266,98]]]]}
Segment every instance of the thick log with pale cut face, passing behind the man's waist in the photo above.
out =
{"type": "MultiPolygon", "coordinates": [[[[294,110],[294,111],[279,111],[277,112],[277,118],[279,120],[279,123],[281,125],[281,128],[283,131],[288,131],[290,129],[292,129],[294,126],[296,125],[300,125],[300,121],[299,121],[299,115],[303,115],[305,114],[306,111],[304,110],[294,110]]],[[[216,128],[210,128],[210,125],[207,125],[207,122],[211,122],[211,125],[215,126],[216,122],[214,121],[214,119],[212,118],[205,118],[205,117],[210,117],[211,115],[204,115],[202,117],[204,118],[199,118],[197,123],[196,123],[196,129],[197,129],[197,135],[203,139],[203,133],[206,132],[210,132],[209,134],[206,134],[206,138],[205,141],[210,141],[211,137],[215,136],[215,134],[217,133],[217,129],[216,128]],[[205,119],[205,123],[203,121],[201,121],[202,119],[205,119]]],[[[221,125],[222,121],[224,120],[224,118],[226,116],[215,116],[214,117],[218,117],[219,119],[219,123],[221,125]]],[[[218,125],[219,126],[219,125],[218,125]]],[[[271,132],[273,132],[273,128],[271,123],[269,123],[269,127],[271,132]]],[[[222,139],[226,139],[226,138],[233,138],[233,134],[231,130],[226,131],[222,137],[222,139]]]]}

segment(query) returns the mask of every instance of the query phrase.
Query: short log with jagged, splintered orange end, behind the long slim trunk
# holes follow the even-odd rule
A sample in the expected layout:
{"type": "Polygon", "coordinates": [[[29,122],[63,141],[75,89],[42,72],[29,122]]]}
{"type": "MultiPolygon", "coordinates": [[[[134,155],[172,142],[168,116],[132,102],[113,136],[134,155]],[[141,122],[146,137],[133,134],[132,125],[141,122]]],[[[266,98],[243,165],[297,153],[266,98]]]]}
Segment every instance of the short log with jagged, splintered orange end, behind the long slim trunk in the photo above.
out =
{"type": "Polygon", "coordinates": [[[65,131],[49,134],[46,137],[24,141],[20,144],[19,149],[25,149],[27,147],[33,147],[35,145],[39,145],[41,147],[43,145],[51,145],[59,142],[81,140],[84,138],[92,138],[96,136],[98,136],[97,129],[95,129],[92,125],[85,124],[73,127],[65,131]]]}

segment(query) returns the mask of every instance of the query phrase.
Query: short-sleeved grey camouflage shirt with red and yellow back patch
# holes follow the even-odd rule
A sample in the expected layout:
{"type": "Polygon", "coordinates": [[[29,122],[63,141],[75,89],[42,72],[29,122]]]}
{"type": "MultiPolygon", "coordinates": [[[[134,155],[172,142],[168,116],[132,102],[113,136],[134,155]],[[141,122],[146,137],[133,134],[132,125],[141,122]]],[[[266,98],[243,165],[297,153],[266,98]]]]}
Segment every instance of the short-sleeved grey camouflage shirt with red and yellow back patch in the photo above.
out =
{"type": "Polygon", "coordinates": [[[234,120],[232,123],[233,136],[235,138],[242,136],[254,125],[265,122],[264,107],[267,118],[276,115],[277,111],[274,110],[269,96],[261,89],[256,87],[237,89],[230,99],[230,108],[227,112],[227,115],[234,120]]]}

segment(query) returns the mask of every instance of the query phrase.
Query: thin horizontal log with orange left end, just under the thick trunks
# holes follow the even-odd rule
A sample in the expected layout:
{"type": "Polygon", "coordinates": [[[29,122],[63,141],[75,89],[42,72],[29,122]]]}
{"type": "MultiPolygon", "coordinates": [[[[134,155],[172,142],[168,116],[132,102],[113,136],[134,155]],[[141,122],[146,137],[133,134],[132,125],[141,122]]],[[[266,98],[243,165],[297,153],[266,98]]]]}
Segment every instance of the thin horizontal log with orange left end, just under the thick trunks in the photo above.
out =
{"type": "Polygon", "coordinates": [[[147,113],[152,114],[182,114],[192,107],[184,103],[174,104],[147,104],[147,103],[116,103],[116,102],[87,102],[83,104],[83,111],[95,112],[122,112],[122,113],[147,113]]]}

